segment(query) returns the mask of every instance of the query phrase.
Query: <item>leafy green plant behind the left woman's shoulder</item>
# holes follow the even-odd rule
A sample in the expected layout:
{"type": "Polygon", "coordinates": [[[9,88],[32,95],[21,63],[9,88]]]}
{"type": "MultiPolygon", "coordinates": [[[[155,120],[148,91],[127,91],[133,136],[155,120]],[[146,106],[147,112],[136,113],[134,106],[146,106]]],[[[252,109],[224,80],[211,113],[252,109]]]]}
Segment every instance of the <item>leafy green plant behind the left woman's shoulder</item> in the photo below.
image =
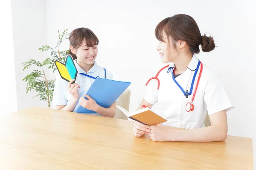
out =
{"type": "Polygon", "coordinates": [[[58,43],[55,48],[50,47],[49,45],[42,45],[38,50],[40,51],[50,51],[50,57],[45,59],[43,62],[30,59],[28,62],[23,62],[23,71],[28,69],[30,66],[35,65],[38,69],[33,70],[30,74],[26,75],[23,81],[26,82],[26,93],[31,90],[35,90],[40,100],[47,102],[48,107],[51,108],[52,95],[55,85],[55,79],[48,79],[45,68],[52,70],[54,73],[57,69],[55,68],[54,61],[57,59],[61,62],[65,61],[65,58],[69,50],[60,51],[61,43],[69,39],[67,36],[69,33],[68,29],[65,29],[62,34],[58,31],[58,43]]]}

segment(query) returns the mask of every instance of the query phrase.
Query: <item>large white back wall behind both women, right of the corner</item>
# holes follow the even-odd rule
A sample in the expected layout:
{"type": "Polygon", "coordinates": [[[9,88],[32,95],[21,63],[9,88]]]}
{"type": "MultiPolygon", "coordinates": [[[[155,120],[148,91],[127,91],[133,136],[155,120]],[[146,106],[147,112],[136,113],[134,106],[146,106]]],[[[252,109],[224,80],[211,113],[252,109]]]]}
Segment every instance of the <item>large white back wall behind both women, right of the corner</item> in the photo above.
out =
{"type": "Polygon", "coordinates": [[[198,57],[219,74],[236,106],[228,113],[229,135],[253,138],[255,145],[255,0],[196,2],[47,0],[47,42],[55,44],[58,29],[92,29],[99,38],[99,65],[115,79],[132,82],[130,110],[134,111],[146,80],[162,66],[155,50],[155,26],[174,14],[189,14],[201,34],[212,34],[218,46],[198,57]]]}

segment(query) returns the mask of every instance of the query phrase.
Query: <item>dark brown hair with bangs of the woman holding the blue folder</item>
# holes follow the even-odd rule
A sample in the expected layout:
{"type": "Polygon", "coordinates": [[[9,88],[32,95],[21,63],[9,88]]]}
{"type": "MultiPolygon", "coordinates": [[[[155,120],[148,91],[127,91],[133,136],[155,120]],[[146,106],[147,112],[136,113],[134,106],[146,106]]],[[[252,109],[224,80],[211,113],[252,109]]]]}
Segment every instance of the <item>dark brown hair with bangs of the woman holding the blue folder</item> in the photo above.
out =
{"type": "MultiPolygon", "coordinates": [[[[88,47],[92,47],[94,45],[99,45],[99,39],[96,37],[96,35],[88,28],[76,28],[70,33],[70,45],[74,48],[79,48],[84,40],[86,41],[86,45],[88,47]]],[[[68,54],[70,54],[73,59],[76,59],[76,54],[73,54],[71,50],[68,51],[68,54]]]]}

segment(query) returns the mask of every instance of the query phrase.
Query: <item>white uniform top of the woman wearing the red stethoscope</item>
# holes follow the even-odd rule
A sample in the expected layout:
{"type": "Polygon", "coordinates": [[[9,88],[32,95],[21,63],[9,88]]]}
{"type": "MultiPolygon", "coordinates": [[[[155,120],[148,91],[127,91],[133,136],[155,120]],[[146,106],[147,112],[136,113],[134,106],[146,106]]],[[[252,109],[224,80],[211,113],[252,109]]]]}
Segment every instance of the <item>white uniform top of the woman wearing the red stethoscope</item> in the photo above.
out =
{"type": "MultiPolygon", "coordinates": [[[[175,67],[174,63],[171,62],[169,64],[169,67],[175,67]]],[[[191,82],[197,65],[198,58],[193,55],[186,71],[175,78],[184,91],[188,90],[190,92],[191,82]]],[[[233,108],[218,75],[203,64],[201,79],[193,102],[195,108],[193,111],[186,112],[186,104],[191,102],[201,66],[195,77],[192,95],[188,98],[184,96],[183,92],[173,81],[172,71],[167,73],[169,67],[163,69],[158,76],[160,80],[158,94],[151,93],[152,91],[155,92],[157,88],[156,83],[149,83],[147,93],[144,96],[147,102],[152,104],[156,99],[156,102],[160,105],[161,111],[158,111],[157,114],[168,120],[168,122],[164,122],[162,125],[185,129],[200,128],[204,127],[207,111],[211,115],[222,110],[230,111],[233,108]]]]}

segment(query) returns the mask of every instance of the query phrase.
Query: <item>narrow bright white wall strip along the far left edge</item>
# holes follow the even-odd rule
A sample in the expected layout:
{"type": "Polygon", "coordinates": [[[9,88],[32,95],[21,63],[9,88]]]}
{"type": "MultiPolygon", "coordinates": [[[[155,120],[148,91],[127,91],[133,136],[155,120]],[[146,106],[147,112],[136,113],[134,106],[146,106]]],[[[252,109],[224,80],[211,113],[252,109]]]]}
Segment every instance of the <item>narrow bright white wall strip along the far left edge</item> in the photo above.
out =
{"type": "Polygon", "coordinates": [[[0,5],[0,114],[17,111],[15,65],[12,35],[12,8],[11,0],[1,2],[0,5]],[[3,24],[3,25],[2,25],[3,24]]]}

